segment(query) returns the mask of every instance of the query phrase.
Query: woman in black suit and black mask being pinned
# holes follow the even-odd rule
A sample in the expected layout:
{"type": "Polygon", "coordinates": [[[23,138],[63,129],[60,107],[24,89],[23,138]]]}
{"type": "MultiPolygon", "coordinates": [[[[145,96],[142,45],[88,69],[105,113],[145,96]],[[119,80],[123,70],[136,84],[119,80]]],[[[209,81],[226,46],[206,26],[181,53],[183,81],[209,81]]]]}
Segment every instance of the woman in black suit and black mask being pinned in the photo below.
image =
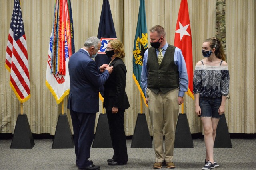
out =
{"type": "Polygon", "coordinates": [[[130,107],[126,92],[126,66],[124,59],[124,45],[117,39],[108,41],[106,55],[111,58],[109,66],[113,66],[112,74],[104,84],[104,103],[108,117],[109,131],[114,149],[112,159],[108,165],[127,164],[128,155],[126,135],[124,132],[124,111],[130,107]]]}

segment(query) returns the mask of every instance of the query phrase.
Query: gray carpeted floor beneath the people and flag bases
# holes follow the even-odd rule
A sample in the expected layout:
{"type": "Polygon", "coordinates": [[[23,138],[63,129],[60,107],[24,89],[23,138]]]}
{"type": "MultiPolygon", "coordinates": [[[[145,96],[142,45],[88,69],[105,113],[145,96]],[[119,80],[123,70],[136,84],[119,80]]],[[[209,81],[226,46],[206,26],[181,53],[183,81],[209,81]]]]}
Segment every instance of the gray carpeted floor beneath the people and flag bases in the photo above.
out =
{"type": "MultiPolygon", "coordinates": [[[[35,139],[32,149],[10,149],[12,140],[0,140],[0,170],[77,170],[74,149],[52,149],[52,139],[35,139]]],[[[127,140],[127,165],[108,166],[112,148],[91,148],[90,160],[101,170],[153,170],[153,148],[131,148],[127,140]]],[[[256,139],[231,139],[232,148],[214,148],[216,170],[256,169],[256,139]]],[[[204,139],[193,139],[194,148],[175,148],[176,170],[200,170],[204,166],[204,139]]],[[[165,166],[162,169],[168,169],[165,166]]]]}

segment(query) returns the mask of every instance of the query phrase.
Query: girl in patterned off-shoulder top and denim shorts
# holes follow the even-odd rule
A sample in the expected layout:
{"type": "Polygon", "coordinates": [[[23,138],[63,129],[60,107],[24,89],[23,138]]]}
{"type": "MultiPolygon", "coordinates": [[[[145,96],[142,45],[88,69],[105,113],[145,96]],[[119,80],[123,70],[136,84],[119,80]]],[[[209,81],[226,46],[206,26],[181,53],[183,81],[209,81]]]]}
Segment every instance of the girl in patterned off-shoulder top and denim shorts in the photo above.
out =
{"type": "Polygon", "coordinates": [[[216,129],[225,111],[229,91],[228,64],[222,44],[215,37],[206,39],[202,45],[204,59],[196,63],[193,79],[195,111],[201,117],[204,128],[206,159],[203,170],[219,165],[214,161],[213,146],[216,129]]]}

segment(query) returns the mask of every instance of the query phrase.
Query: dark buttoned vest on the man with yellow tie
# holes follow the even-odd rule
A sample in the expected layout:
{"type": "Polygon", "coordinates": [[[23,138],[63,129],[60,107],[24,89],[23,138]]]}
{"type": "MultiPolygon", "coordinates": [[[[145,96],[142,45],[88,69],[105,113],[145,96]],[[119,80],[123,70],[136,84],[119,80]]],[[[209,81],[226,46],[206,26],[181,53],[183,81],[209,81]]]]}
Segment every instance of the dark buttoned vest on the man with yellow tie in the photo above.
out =
{"type": "Polygon", "coordinates": [[[154,93],[161,91],[163,94],[179,87],[178,67],[174,63],[175,48],[169,45],[164,54],[162,63],[158,64],[155,48],[148,49],[148,88],[154,93]]]}

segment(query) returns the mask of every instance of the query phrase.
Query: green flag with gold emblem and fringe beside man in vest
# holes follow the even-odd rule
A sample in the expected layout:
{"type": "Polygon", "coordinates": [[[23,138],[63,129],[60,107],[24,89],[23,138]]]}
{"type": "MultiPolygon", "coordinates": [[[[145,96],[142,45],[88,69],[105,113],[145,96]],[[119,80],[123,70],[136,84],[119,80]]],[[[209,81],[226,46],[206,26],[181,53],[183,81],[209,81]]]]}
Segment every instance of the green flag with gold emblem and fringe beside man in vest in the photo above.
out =
{"type": "Polygon", "coordinates": [[[143,64],[143,57],[145,51],[148,49],[148,33],[147,33],[147,23],[146,23],[146,12],[145,12],[145,2],[140,0],[140,9],[138,15],[137,29],[134,39],[133,46],[133,79],[138,86],[140,94],[145,101],[145,95],[142,91],[140,84],[140,74],[143,64]]]}

